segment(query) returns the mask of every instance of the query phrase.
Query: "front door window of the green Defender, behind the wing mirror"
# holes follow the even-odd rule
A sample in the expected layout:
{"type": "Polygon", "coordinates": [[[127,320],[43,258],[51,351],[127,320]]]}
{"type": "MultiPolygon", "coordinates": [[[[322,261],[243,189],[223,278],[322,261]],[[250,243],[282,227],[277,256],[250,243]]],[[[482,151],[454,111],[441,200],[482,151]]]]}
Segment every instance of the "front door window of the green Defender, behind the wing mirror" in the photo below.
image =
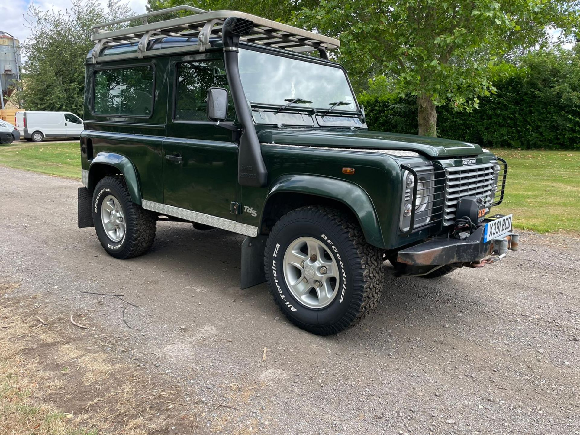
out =
{"type": "MultiPolygon", "coordinates": [[[[175,120],[208,121],[208,89],[212,86],[230,89],[222,59],[179,64],[175,89],[175,120]]],[[[232,121],[234,108],[231,96],[228,105],[227,119],[232,121]]]]}

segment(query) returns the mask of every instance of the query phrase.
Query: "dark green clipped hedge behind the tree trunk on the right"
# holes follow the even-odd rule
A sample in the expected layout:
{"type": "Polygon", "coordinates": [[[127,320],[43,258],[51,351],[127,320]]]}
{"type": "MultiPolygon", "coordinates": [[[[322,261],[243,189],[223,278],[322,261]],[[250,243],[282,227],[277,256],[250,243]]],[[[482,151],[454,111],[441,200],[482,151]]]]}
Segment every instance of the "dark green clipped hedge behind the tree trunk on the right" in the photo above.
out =
{"type": "MultiPolygon", "coordinates": [[[[485,147],[580,149],[580,59],[536,52],[493,71],[495,93],[471,113],[437,107],[437,134],[485,147]]],[[[369,129],[416,134],[415,97],[362,95],[369,129]]]]}

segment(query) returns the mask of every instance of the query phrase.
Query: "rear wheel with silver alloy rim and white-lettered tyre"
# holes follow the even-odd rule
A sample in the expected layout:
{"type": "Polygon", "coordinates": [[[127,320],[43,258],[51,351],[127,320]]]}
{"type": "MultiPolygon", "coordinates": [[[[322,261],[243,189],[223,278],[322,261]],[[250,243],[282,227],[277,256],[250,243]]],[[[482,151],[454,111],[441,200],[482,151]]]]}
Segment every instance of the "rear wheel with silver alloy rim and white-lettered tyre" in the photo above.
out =
{"type": "Polygon", "coordinates": [[[109,255],[132,258],[153,245],[155,216],[131,201],[124,177],[108,176],[97,183],[92,211],[97,237],[109,255]]]}

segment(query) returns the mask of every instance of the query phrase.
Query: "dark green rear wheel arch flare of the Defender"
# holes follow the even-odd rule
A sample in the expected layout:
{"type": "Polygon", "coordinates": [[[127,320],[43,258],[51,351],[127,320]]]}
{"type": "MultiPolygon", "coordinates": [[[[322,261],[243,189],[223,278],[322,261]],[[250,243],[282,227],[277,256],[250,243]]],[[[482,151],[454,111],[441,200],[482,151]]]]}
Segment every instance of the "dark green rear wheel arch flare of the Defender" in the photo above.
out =
{"type": "Polygon", "coordinates": [[[87,186],[93,191],[100,179],[108,175],[121,174],[125,178],[131,201],[141,205],[141,189],[137,171],[131,160],[124,155],[101,152],[90,162],[87,186]]]}

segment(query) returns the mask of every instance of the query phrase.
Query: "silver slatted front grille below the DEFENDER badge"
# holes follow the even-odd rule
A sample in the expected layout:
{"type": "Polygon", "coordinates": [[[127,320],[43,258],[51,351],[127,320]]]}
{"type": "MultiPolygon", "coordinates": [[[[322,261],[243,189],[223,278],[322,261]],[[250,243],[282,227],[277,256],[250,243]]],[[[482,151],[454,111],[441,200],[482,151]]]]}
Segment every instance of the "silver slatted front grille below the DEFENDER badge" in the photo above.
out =
{"type": "Polygon", "coordinates": [[[445,168],[444,226],[455,222],[457,201],[462,197],[483,197],[485,198],[486,213],[490,211],[495,195],[492,187],[496,183],[494,164],[495,162],[491,162],[482,165],[445,168]]]}

